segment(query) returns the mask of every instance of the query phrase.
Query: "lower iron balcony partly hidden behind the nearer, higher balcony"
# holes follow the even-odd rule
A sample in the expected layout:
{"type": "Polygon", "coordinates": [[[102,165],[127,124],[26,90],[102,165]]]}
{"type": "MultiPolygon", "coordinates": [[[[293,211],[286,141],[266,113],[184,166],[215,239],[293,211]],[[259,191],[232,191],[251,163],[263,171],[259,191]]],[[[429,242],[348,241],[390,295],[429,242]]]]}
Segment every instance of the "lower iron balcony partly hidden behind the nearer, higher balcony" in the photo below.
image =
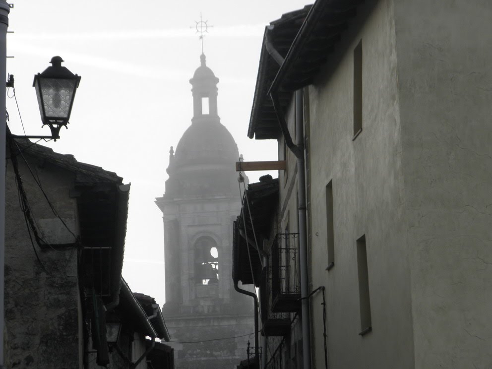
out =
{"type": "Polygon", "coordinates": [[[287,312],[272,312],[272,273],[270,267],[263,268],[260,279],[260,313],[263,336],[286,336],[290,333],[291,321],[287,312]]]}

